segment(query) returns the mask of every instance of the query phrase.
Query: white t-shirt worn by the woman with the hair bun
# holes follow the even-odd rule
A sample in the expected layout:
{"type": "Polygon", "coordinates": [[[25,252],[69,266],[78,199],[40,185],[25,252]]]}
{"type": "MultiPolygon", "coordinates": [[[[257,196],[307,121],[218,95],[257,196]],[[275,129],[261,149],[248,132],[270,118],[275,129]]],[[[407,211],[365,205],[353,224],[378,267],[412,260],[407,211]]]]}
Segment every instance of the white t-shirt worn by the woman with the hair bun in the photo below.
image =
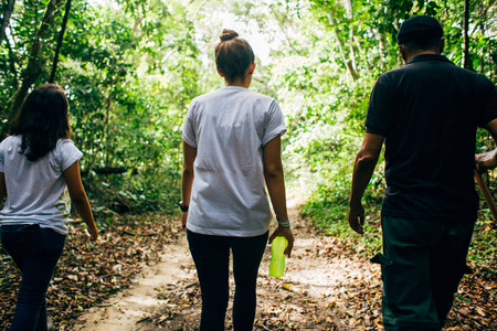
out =
{"type": "Polygon", "coordinates": [[[263,147],[285,132],[272,97],[226,86],[194,98],[181,127],[183,141],[197,148],[187,228],[220,236],[266,233],[272,215],[263,147]]]}

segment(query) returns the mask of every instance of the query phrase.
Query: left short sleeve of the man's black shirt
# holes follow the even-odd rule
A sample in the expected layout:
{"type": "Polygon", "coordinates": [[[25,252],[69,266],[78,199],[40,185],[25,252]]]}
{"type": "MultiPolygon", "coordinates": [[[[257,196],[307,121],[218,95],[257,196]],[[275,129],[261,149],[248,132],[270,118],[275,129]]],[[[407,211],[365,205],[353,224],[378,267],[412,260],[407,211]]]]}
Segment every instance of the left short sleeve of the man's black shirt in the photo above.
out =
{"type": "Polygon", "coordinates": [[[384,81],[385,77],[380,76],[371,92],[366,114],[366,131],[387,137],[392,126],[394,113],[391,102],[392,96],[384,81]]]}

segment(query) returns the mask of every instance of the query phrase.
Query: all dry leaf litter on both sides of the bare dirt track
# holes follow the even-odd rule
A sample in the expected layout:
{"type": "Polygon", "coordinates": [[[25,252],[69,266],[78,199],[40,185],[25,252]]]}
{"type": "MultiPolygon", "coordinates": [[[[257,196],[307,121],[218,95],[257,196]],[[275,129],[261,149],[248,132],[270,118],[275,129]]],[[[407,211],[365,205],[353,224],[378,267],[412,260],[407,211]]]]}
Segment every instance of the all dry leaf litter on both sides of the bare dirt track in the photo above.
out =
{"type": "MultiPolygon", "coordinates": [[[[50,316],[57,330],[71,330],[82,311],[129,287],[141,268],[160,259],[163,245],[176,243],[178,225],[160,215],[119,217],[102,232],[98,245],[86,242],[81,224],[72,226],[49,290],[50,316]]],[[[307,225],[302,226],[296,232],[305,232],[307,225]]],[[[299,238],[288,261],[292,270],[287,278],[266,276],[266,254],[257,284],[254,330],[382,330],[379,274],[339,239],[310,232],[308,243],[299,238]],[[331,268],[319,268],[325,265],[331,268]],[[321,270],[322,277],[314,279],[321,270]]],[[[6,255],[0,257],[0,329],[6,330],[20,277],[11,260],[6,255]]],[[[495,273],[487,271],[476,269],[463,279],[445,331],[497,330],[497,279],[491,276],[495,273]]],[[[137,328],[195,330],[201,300],[192,279],[158,287],[161,309],[145,316],[137,328]]],[[[226,325],[232,330],[231,309],[226,325]]]]}

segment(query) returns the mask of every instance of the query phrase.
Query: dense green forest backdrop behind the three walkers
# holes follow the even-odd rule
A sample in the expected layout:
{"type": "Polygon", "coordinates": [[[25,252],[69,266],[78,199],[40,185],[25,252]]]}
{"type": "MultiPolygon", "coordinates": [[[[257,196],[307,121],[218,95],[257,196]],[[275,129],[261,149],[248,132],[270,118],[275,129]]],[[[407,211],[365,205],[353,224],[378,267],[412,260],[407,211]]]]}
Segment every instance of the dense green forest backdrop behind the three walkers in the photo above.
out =
{"type": "MultiPolygon", "coordinates": [[[[414,14],[436,17],[444,54],[497,82],[495,0],[3,0],[0,131],[34,86],[60,84],[71,104],[82,171],[102,224],[123,212],[175,213],[180,126],[190,100],[223,81],[213,46],[223,28],[252,43],[252,89],[274,96],[287,119],[289,189],[302,211],[350,236],[347,201],[355,154],[378,76],[402,65],[395,35],[414,14]]],[[[485,131],[478,150],[491,148],[485,131]]],[[[378,212],[379,163],[366,194],[378,212]]],[[[371,227],[376,226],[374,213],[371,227]]],[[[482,226],[495,226],[484,207],[482,226]]],[[[491,233],[491,231],[489,233],[491,233]]],[[[378,246],[378,231],[359,245],[378,246]]],[[[366,248],[364,248],[366,249],[366,248]]],[[[369,249],[369,248],[368,248],[369,249]]],[[[495,256],[495,248],[485,254],[495,256]]]]}

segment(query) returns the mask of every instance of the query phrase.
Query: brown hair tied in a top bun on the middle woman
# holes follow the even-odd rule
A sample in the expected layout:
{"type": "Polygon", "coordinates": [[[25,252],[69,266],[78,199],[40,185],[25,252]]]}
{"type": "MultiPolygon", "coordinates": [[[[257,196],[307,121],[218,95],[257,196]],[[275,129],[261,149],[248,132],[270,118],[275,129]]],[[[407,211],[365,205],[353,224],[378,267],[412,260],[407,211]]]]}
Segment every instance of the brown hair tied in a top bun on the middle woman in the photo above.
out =
{"type": "Polygon", "coordinates": [[[255,56],[251,45],[233,30],[224,29],[221,42],[215,45],[215,65],[224,77],[232,82],[243,77],[255,56]]]}

